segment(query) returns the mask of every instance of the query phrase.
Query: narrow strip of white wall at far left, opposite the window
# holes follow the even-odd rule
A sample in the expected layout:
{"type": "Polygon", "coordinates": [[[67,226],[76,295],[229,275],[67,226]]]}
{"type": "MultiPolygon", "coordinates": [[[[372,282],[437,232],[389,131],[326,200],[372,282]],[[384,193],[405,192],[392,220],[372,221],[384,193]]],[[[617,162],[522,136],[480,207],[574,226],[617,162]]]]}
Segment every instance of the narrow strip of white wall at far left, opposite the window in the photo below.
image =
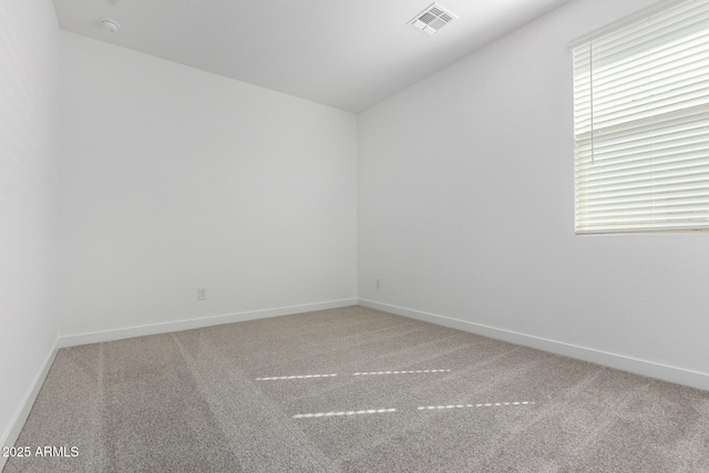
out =
{"type": "Polygon", "coordinates": [[[0,2],[0,446],[56,339],[58,37],[51,0],[0,2]]]}

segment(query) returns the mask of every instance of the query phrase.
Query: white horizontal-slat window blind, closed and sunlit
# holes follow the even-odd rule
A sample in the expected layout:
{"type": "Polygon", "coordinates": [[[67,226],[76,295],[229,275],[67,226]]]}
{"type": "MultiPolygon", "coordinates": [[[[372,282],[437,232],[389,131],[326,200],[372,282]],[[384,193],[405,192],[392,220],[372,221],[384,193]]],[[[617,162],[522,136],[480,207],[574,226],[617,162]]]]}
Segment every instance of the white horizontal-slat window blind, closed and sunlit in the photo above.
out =
{"type": "Polygon", "coordinates": [[[572,45],[576,233],[709,229],[709,1],[572,45]]]}

